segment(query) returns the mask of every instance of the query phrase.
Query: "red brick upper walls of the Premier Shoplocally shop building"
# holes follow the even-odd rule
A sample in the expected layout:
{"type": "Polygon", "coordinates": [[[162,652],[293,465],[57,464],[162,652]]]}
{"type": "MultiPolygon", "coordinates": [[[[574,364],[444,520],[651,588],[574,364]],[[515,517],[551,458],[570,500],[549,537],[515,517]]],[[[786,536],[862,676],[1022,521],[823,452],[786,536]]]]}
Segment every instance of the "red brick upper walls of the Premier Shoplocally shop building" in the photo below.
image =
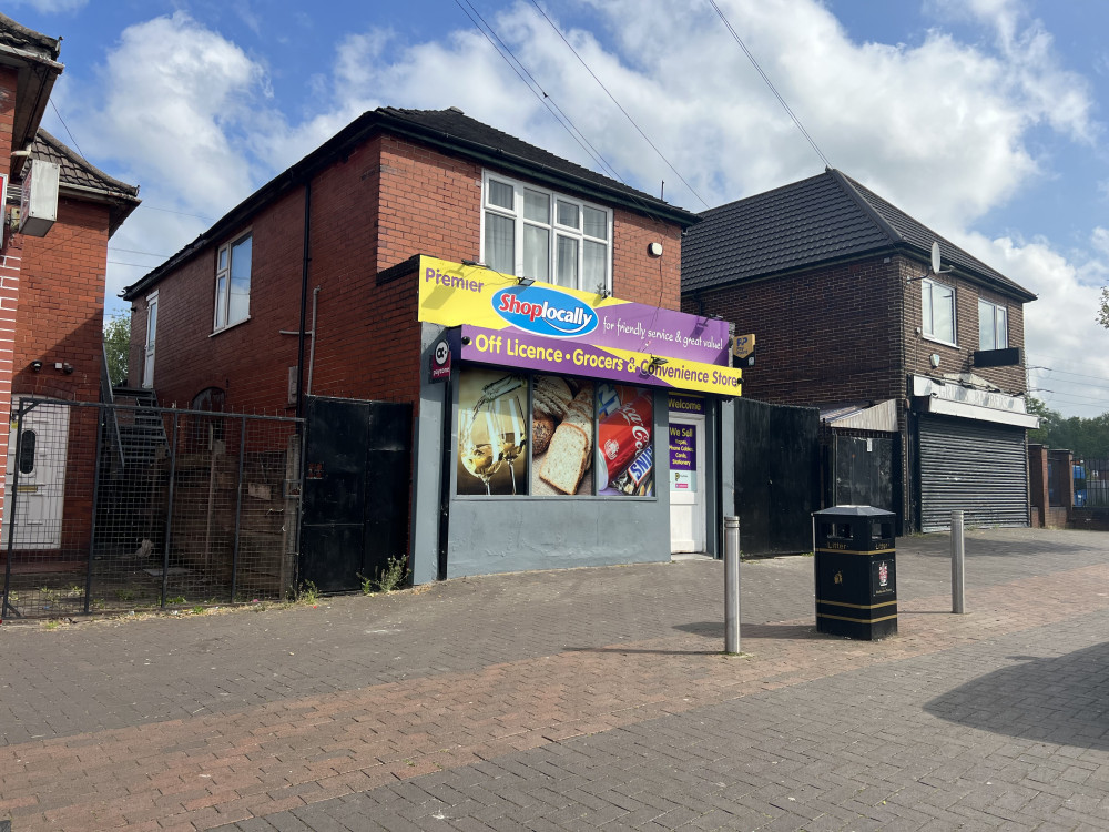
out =
{"type": "MultiPolygon", "coordinates": [[[[232,409],[292,413],[285,403],[296,337],[277,332],[298,324],[303,203],[303,192],[296,192],[253,221],[248,322],[208,337],[216,245],[159,284],[154,388],[162,404],[187,406],[215,385],[227,392],[232,409]]],[[[396,136],[372,139],[315,177],[306,318],[311,326],[312,291],[318,286],[313,393],[418,399],[416,275],[378,285],[377,273],[417,254],[477,258],[480,212],[480,165],[396,136]]],[[[679,230],[617,211],[613,235],[615,294],[676,308],[679,230]],[[663,243],[661,258],[648,255],[649,242],[663,243]]],[[[138,369],[145,301],[133,306],[131,365],[138,369]]],[[[311,341],[306,381],[309,346],[311,341]]],[[[138,384],[139,373],[132,375],[138,384]]]]}

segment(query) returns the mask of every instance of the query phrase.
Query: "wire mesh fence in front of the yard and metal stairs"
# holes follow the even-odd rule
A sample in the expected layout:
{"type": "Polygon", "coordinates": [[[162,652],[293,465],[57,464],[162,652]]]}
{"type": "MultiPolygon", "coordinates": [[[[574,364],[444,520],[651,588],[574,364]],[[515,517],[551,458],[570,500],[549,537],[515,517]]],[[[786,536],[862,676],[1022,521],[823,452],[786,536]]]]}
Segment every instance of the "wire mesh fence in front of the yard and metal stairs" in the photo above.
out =
{"type": "Polygon", "coordinates": [[[3,617],[233,603],[296,586],[302,422],[22,399],[3,617]]]}

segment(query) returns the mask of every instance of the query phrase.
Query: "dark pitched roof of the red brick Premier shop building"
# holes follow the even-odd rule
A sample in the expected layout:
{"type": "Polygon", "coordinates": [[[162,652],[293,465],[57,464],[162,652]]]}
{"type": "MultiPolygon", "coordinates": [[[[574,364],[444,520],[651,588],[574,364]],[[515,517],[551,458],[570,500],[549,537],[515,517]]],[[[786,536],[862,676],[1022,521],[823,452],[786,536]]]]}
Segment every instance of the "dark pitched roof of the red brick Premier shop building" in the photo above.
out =
{"type": "Polygon", "coordinates": [[[518,173],[568,194],[620,205],[683,229],[700,221],[696,214],[528,144],[471,119],[456,106],[446,110],[401,110],[383,106],[363,113],[299,162],[247,196],[165,263],[138,283],[124,288],[121,297],[130,301],[139,296],[164,274],[231,232],[234,226],[245,223],[250,216],[278,195],[289,189],[302,187],[316,172],[377,133],[400,135],[450,155],[518,173]]]}

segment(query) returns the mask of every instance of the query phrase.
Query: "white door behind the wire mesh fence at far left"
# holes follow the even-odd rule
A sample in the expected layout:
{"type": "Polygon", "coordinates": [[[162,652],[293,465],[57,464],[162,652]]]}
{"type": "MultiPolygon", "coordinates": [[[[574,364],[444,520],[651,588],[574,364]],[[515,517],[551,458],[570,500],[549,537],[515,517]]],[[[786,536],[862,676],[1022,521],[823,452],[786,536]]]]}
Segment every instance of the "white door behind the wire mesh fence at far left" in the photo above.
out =
{"type": "Polygon", "coordinates": [[[16,504],[16,549],[59,549],[62,545],[62,509],[65,498],[65,455],[69,446],[69,407],[35,405],[18,426],[12,419],[8,434],[8,468],[4,480],[3,531],[7,549],[11,506],[16,504]],[[17,450],[17,442],[19,448],[17,450]],[[16,471],[19,476],[16,477],[16,471]],[[14,488],[12,488],[12,484],[14,488]]]}

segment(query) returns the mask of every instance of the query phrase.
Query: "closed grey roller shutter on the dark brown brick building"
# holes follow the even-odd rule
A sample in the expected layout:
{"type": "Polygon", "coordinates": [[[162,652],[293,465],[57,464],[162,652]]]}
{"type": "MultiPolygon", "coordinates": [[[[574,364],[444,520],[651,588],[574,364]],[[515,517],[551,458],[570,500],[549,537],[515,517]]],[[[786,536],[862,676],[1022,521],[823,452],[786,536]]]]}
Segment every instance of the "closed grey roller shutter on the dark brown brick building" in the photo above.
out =
{"type": "Polygon", "coordinates": [[[1024,428],[922,415],[917,428],[920,530],[1028,525],[1028,451],[1024,428]]]}

